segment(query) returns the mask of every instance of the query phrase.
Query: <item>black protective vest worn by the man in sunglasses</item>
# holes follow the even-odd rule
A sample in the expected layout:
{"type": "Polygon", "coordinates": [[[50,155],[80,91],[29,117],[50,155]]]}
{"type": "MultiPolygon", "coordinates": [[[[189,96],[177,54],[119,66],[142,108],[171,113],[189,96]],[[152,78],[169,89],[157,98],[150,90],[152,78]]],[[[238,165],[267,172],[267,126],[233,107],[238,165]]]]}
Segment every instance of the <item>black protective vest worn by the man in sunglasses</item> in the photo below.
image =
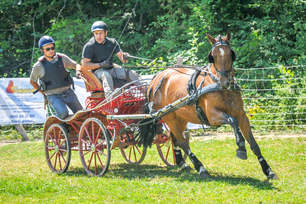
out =
{"type": "Polygon", "coordinates": [[[33,94],[37,93],[39,90],[45,91],[69,85],[72,85],[74,91],[73,79],[71,73],[64,67],[62,54],[55,53],[54,57],[57,58],[55,63],[48,62],[45,57],[39,57],[38,60],[43,64],[45,74],[43,77],[39,78],[40,87],[34,91],[33,94]]]}

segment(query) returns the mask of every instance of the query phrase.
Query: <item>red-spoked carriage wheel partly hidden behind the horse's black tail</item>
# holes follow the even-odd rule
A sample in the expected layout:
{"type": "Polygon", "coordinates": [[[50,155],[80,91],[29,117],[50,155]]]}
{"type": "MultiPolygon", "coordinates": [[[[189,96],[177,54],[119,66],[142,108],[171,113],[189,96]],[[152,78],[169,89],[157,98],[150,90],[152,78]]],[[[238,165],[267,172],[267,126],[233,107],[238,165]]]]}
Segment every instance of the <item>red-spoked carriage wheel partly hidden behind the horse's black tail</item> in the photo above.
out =
{"type": "MultiPolygon", "coordinates": [[[[138,130],[139,127],[134,127],[132,130],[130,130],[130,137],[134,138],[134,135],[136,135],[138,130]]],[[[147,153],[147,147],[144,147],[143,145],[138,147],[137,144],[133,144],[127,146],[126,148],[120,148],[120,151],[125,161],[127,161],[129,164],[140,164],[142,161],[144,161],[147,153]]]]}

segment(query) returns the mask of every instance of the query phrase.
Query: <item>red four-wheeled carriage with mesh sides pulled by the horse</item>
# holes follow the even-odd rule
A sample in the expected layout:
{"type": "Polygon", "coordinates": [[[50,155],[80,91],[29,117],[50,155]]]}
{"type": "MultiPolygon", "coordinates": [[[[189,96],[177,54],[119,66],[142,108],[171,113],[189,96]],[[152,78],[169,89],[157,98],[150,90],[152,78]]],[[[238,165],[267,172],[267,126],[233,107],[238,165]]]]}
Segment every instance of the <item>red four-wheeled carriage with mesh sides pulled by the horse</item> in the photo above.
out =
{"type": "MultiPolygon", "coordinates": [[[[51,171],[65,172],[70,163],[71,151],[79,151],[85,171],[92,176],[104,175],[110,165],[111,150],[119,149],[130,164],[140,164],[146,155],[147,147],[138,145],[135,140],[139,132],[140,119],[107,119],[108,115],[134,115],[141,112],[147,85],[133,86],[133,82],[114,79],[114,87],[120,87],[109,98],[105,98],[100,80],[91,71],[84,70],[81,78],[91,95],[86,107],[64,120],[58,118],[48,106],[49,117],[44,124],[44,149],[47,164],[51,171]]],[[[158,131],[152,144],[156,144],[162,161],[175,166],[170,130],[158,121],[158,131]]],[[[189,130],[184,132],[189,141],[189,130]]],[[[185,154],[186,158],[187,155],[185,154]]]]}

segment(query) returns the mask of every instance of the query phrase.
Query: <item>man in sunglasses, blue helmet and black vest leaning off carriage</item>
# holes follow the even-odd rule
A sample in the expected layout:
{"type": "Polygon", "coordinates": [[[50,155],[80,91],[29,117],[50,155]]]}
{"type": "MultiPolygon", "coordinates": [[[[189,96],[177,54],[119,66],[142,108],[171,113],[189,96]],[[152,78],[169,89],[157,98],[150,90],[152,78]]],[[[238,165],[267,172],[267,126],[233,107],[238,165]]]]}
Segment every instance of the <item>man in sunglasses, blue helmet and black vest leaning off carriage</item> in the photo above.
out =
{"type": "MultiPolygon", "coordinates": [[[[71,89],[73,79],[66,68],[76,69],[76,75],[81,73],[81,65],[67,55],[55,52],[55,42],[50,36],[43,36],[38,43],[43,56],[33,65],[30,83],[44,95],[57,116],[61,119],[68,117],[66,105],[76,113],[82,109],[76,94],[71,89]],[[40,85],[37,83],[40,81],[40,85]]],[[[77,75],[78,76],[78,75],[77,75]]]]}

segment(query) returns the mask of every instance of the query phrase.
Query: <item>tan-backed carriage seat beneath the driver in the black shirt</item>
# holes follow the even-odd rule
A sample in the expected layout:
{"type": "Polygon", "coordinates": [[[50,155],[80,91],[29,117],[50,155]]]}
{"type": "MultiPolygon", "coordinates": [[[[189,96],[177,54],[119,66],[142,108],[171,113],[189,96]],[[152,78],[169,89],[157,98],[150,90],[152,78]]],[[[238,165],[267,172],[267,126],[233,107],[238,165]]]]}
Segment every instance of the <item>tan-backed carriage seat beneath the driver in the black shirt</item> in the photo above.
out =
{"type": "MultiPolygon", "coordinates": [[[[117,64],[114,64],[115,67],[120,67],[117,64]]],[[[102,82],[99,80],[99,78],[92,72],[91,70],[82,70],[83,74],[87,77],[85,79],[87,80],[87,83],[85,82],[85,87],[87,92],[91,93],[91,97],[104,97],[104,90],[102,82]]],[[[128,82],[126,80],[122,79],[113,79],[113,85],[114,88],[122,87],[122,84],[127,84],[128,82]]]]}

